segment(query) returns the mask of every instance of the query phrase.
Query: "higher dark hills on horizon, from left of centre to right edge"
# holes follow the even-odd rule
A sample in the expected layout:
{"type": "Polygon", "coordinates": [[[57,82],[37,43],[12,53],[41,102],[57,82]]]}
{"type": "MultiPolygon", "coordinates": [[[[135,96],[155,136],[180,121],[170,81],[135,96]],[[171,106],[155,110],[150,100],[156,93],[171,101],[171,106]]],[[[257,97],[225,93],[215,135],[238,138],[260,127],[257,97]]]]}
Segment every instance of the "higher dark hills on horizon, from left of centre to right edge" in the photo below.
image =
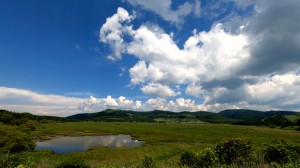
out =
{"type": "Polygon", "coordinates": [[[170,112],[170,111],[130,111],[107,109],[96,113],[76,114],[67,117],[71,121],[103,121],[103,122],[156,122],[156,121],[202,121],[208,123],[233,123],[241,125],[261,125],[262,121],[272,116],[300,116],[298,112],[291,111],[257,111],[249,109],[228,109],[219,113],[198,112],[170,112]]]}

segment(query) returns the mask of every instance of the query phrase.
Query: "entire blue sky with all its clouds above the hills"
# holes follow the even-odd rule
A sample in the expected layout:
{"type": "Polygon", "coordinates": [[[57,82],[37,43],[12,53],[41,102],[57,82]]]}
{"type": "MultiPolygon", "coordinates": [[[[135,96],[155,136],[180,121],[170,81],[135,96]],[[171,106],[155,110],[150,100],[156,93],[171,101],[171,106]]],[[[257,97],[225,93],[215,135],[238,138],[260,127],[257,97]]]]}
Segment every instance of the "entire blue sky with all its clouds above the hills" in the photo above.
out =
{"type": "Polygon", "coordinates": [[[0,2],[0,109],[300,111],[299,0],[0,2]]]}

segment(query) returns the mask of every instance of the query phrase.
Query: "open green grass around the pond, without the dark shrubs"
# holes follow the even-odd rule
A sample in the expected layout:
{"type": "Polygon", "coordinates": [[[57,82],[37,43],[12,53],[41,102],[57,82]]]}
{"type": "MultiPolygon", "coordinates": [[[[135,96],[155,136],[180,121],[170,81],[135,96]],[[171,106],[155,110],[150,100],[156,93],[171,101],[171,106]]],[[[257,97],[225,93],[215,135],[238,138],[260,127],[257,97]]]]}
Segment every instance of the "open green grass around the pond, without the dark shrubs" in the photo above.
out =
{"type": "Polygon", "coordinates": [[[55,166],[66,159],[81,159],[93,167],[136,167],[144,156],[154,157],[159,167],[176,167],[183,151],[213,148],[228,138],[250,140],[257,151],[263,150],[265,144],[274,139],[300,143],[299,131],[224,124],[70,122],[42,124],[34,133],[40,138],[48,135],[129,134],[146,142],[142,147],[96,147],[86,152],[61,155],[35,151],[31,155],[38,167],[55,166]]]}

